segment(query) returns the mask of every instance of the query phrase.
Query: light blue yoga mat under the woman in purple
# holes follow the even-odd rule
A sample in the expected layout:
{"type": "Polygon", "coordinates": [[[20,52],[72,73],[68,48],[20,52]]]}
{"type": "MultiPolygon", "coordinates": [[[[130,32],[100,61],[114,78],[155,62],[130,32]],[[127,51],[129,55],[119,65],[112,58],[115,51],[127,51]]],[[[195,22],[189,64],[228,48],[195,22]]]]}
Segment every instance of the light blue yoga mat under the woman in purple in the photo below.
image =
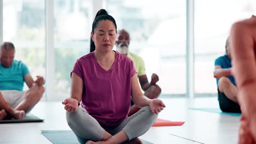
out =
{"type": "MultiPolygon", "coordinates": [[[[42,130],[42,134],[53,144],[80,144],[72,130],[42,130]]],[[[146,140],[144,144],[153,144],[146,140]]]]}

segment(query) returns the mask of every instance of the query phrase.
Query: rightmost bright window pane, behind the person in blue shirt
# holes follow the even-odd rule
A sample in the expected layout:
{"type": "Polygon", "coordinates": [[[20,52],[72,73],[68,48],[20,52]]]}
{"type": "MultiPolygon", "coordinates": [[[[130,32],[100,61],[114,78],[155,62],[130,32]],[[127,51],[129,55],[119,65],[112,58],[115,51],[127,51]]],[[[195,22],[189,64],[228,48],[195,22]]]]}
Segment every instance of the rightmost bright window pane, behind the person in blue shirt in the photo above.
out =
{"type": "Polygon", "coordinates": [[[217,93],[214,60],[225,55],[232,23],[256,10],[254,0],[195,1],[195,93],[217,93]]]}

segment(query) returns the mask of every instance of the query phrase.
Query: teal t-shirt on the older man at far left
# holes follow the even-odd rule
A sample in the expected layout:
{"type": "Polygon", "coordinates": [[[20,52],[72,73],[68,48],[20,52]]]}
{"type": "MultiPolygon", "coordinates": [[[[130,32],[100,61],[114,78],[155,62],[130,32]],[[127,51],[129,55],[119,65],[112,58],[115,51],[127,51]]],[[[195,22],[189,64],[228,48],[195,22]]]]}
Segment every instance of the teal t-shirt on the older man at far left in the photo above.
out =
{"type": "Polygon", "coordinates": [[[9,68],[4,68],[0,63],[0,90],[23,91],[24,76],[29,74],[27,66],[21,61],[13,61],[9,68]]]}

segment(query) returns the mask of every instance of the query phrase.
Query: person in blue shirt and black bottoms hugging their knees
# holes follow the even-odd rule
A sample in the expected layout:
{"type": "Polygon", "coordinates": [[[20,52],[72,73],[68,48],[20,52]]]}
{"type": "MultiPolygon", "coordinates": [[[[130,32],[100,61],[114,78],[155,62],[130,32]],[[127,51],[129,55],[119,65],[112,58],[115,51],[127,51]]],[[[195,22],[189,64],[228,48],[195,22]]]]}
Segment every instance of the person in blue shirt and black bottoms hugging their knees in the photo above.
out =
{"type": "Polygon", "coordinates": [[[237,88],[231,70],[230,40],[226,39],[226,53],[215,60],[213,75],[217,79],[219,107],[223,112],[241,112],[237,88]]]}

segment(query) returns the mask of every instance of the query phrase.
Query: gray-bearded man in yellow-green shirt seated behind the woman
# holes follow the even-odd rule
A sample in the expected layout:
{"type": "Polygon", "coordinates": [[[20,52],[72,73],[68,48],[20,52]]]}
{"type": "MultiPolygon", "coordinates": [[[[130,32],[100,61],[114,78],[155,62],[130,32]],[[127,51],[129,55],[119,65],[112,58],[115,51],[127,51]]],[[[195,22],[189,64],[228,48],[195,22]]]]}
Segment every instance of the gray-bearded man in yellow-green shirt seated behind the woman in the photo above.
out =
{"type": "MultiPolygon", "coordinates": [[[[125,29],[119,30],[117,32],[117,39],[115,40],[117,51],[132,59],[137,71],[139,83],[144,91],[144,95],[149,99],[158,98],[161,93],[161,88],[156,85],[156,82],[159,81],[158,75],[152,74],[151,81],[150,83],[148,82],[143,59],[134,53],[129,52],[129,45],[130,34],[125,29]]],[[[140,110],[140,108],[131,101],[131,109],[128,116],[133,115],[133,113],[136,113],[138,110],[140,110]]]]}

